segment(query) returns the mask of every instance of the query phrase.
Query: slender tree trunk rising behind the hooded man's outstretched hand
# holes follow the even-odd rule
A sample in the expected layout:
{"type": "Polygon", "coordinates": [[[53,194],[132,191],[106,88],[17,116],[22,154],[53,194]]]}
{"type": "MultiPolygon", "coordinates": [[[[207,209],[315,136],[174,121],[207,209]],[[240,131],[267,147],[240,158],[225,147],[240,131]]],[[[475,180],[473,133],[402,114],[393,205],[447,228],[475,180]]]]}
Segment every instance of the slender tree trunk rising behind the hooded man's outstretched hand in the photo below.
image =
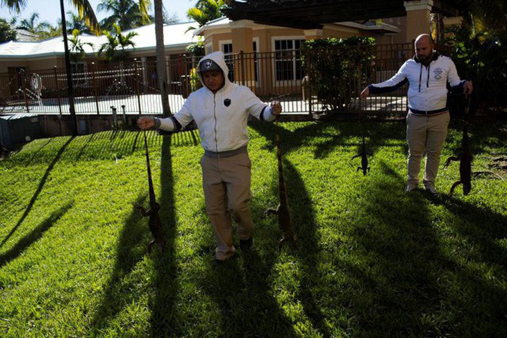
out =
{"type": "Polygon", "coordinates": [[[163,115],[169,116],[171,115],[171,108],[169,108],[167,82],[165,79],[164,18],[162,0],[155,0],[154,5],[158,88],[160,89],[160,95],[162,96],[163,115]]]}

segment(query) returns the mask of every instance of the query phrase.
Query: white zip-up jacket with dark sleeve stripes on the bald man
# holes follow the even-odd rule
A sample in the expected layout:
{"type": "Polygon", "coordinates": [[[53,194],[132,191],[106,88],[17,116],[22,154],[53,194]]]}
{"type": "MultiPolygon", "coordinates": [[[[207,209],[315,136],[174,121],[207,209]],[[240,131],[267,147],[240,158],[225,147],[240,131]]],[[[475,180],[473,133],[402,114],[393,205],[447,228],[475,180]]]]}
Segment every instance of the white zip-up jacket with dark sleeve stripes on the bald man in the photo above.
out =
{"type": "Polygon", "coordinates": [[[463,91],[465,80],[460,81],[456,65],[447,56],[433,51],[429,65],[417,58],[406,60],[397,74],[388,81],[369,85],[369,92],[391,92],[408,82],[408,108],[413,112],[438,113],[447,110],[447,83],[452,92],[463,91]]]}

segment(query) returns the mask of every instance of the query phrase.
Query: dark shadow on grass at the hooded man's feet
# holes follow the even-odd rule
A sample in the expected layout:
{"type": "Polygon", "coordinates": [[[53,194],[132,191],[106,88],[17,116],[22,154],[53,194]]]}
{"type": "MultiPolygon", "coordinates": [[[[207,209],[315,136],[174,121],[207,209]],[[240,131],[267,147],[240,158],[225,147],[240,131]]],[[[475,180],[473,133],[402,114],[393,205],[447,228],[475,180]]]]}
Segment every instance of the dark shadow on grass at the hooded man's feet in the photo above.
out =
{"type": "MultiPolygon", "coordinates": [[[[258,217],[263,214],[265,205],[251,203],[251,210],[256,215],[253,221],[260,223],[258,217]]],[[[209,223],[207,217],[206,221],[209,223]]],[[[235,255],[221,265],[210,260],[214,249],[211,238],[200,239],[200,251],[208,259],[204,260],[206,266],[197,275],[199,289],[206,292],[202,298],[208,301],[209,296],[211,302],[203,314],[205,327],[198,335],[213,332],[212,335],[218,337],[295,336],[292,323],[276,302],[270,285],[279,235],[276,228],[256,227],[253,248],[243,253],[235,244],[235,255]],[[206,324],[210,328],[206,328],[206,324]]]]}

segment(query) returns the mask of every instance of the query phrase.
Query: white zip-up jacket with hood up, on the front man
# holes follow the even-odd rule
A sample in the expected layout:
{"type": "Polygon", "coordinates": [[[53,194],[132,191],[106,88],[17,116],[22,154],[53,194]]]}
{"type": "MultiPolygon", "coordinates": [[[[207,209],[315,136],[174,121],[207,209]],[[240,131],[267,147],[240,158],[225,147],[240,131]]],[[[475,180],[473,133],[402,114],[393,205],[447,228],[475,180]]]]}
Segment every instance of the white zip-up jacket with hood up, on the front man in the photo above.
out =
{"type": "MultiPolygon", "coordinates": [[[[204,85],[192,92],[183,108],[174,116],[160,119],[160,129],[175,130],[186,126],[192,120],[199,128],[201,145],[206,151],[232,151],[248,144],[247,120],[251,114],[257,119],[272,121],[271,107],[260,101],[249,87],[236,85],[228,80],[228,67],[224,53],[217,51],[199,61],[213,60],[224,73],[225,85],[215,94],[204,85]]],[[[197,69],[199,69],[197,65],[197,69]]]]}

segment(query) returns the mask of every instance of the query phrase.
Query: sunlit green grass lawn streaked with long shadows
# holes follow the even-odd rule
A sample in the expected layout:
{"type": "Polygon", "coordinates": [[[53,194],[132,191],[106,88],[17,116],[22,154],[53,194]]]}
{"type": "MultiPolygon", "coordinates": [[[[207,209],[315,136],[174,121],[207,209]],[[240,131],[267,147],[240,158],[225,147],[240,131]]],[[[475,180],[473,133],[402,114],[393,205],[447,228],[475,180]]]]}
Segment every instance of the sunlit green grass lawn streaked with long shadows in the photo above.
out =
{"type": "MultiPolygon", "coordinates": [[[[406,194],[404,122],[367,129],[363,176],[351,161],[360,124],[281,126],[298,243],[279,250],[264,214],[278,201],[274,126],[251,124],[254,249],[219,266],[197,134],[148,134],[163,255],[145,255],[147,219],[133,208],[148,203],[142,133],[26,144],[0,161],[0,335],[506,337],[507,183],[406,194]]],[[[507,124],[470,134],[474,170],[506,178],[507,124]]],[[[460,136],[449,130],[442,160],[460,136]]],[[[441,169],[437,188],[457,177],[458,164],[441,169]]]]}

